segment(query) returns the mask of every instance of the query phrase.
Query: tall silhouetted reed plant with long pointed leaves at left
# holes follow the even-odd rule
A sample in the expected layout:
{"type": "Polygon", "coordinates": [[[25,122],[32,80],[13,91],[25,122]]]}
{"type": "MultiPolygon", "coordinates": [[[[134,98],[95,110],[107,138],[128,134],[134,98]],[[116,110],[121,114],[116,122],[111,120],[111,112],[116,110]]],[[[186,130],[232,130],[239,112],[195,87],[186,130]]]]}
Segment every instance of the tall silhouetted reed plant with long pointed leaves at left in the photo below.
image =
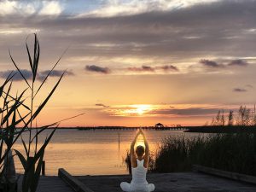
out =
{"type": "MultiPolygon", "coordinates": [[[[1,174],[0,176],[2,178],[5,178],[5,172],[6,170],[5,165],[3,164],[3,160],[8,157],[8,153],[13,148],[14,143],[17,141],[17,139],[21,139],[21,142],[23,144],[25,155],[21,154],[20,151],[15,150],[15,153],[20,159],[20,162],[24,168],[24,175],[22,178],[22,192],[35,192],[38,187],[38,180],[40,177],[40,172],[42,169],[42,164],[44,160],[44,151],[46,146],[48,145],[51,137],[53,137],[55,133],[56,127],[59,125],[59,122],[52,123],[50,125],[44,125],[41,127],[32,127],[32,123],[37,119],[38,114],[43,110],[47,102],[49,101],[49,98],[53,95],[55,92],[57,86],[60,84],[61,79],[65,72],[61,74],[60,79],[56,82],[52,90],[49,92],[49,95],[46,96],[44,99],[44,102],[42,102],[38,108],[35,108],[34,102],[36,96],[38,96],[38,92],[43,87],[46,80],[49,78],[50,73],[55,69],[56,65],[61,60],[61,57],[59,60],[55,63],[55,65],[49,70],[49,73],[45,76],[43,81],[39,84],[39,86],[36,88],[35,81],[38,78],[38,65],[39,65],[39,56],[40,56],[40,46],[38,42],[37,34],[34,34],[34,46],[33,46],[33,55],[31,54],[31,51],[28,47],[28,44],[26,43],[26,52],[28,55],[28,61],[29,66],[31,68],[32,73],[32,79],[26,79],[25,75],[22,73],[22,70],[18,67],[18,65],[15,63],[15,60],[13,59],[13,56],[10,54],[9,56],[13,64],[16,68],[16,73],[9,74],[8,78],[4,81],[3,85],[0,87],[0,96],[3,100],[3,107],[0,108],[0,113],[2,115],[1,117],[1,126],[0,126],[0,169],[1,174]],[[11,96],[10,90],[12,87],[12,79],[14,76],[19,73],[22,79],[26,82],[27,88],[21,92],[20,95],[17,96],[11,96]],[[10,83],[9,83],[10,82],[10,83]],[[8,90],[5,90],[5,87],[9,84],[8,90]],[[25,93],[28,93],[31,97],[30,106],[25,104],[26,99],[24,99],[25,93]],[[21,110],[26,109],[26,113],[22,114],[21,110]],[[17,128],[17,125],[19,125],[19,128],[17,128]],[[46,137],[44,143],[42,146],[38,146],[38,137],[40,133],[42,133],[44,130],[46,130],[49,127],[54,127],[55,129],[51,131],[49,134],[49,137],[46,137]],[[32,129],[36,129],[36,133],[32,135],[32,129]],[[29,138],[28,141],[24,141],[22,137],[22,133],[25,131],[28,131],[29,138]],[[32,151],[32,144],[35,145],[34,151],[32,151]],[[4,146],[5,145],[5,146],[4,146]],[[3,153],[3,149],[6,148],[5,152],[3,153]]],[[[62,56],[62,55],[61,55],[62,56]]],[[[9,191],[8,182],[3,183],[2,185],[3,191],[9,191]]]]}

